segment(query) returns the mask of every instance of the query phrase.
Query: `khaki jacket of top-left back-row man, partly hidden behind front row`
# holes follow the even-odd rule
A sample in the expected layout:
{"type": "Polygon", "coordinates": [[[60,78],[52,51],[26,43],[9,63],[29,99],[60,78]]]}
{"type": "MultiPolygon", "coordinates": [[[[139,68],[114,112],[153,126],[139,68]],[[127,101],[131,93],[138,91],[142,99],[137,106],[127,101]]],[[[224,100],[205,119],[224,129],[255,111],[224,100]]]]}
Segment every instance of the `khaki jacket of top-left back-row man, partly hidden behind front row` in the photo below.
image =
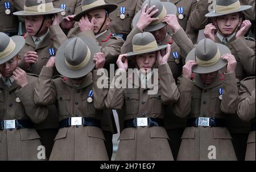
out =
{"type": "MultiPolygon", "coordinates": [[[[24,61],[22,60],[19,63],[19,67],[25,70],[26,72],[30,72],[32,74],[39,75],[43,66],[48,62],[50,55],[49,49],[55,49],[55,53],[59,46],[67,39],[67,36],[63,33],[59,26],[51,26],[49,27],[48,35],[40,42],[38,47],[36,48],[34,40],[31,36],[26,35],[26,44],[23,46],[22,50],[20,50],[19,55],[23,58],[24,55],[28,51],[36,51],[38,55],[38,62],[31,66],[31,68],[27,68],[24,61]]],[[[55,70],[55,75],[57,75],[57,71],[55,70]]],[[[46,128],[57,128],[57,111],[53,106],[48,106],[49,114],[46,118],[46,121],[43,123],[37,124],[36,129],[46,129],[46,128]]]]}

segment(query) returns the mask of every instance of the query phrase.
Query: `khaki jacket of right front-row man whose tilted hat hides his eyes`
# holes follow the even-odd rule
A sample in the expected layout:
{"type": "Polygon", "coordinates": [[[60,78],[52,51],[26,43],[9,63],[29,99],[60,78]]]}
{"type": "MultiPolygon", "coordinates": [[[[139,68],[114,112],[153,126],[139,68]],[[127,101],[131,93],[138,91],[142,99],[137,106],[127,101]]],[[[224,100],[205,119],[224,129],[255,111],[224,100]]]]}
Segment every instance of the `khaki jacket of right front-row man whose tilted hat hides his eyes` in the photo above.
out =
{"type": "MultiPolygon", "coordinates": [[[[221,77],[220,77],[221,78],[221,77]]],[[[229,102],[237,96],[237,80],[234,73],[224,74],[224,81],[219,77],[212,84],[205,86],[199,75],[195,80],[179,78],[180,99],[174,104],[174,113],[187,118],[222,118],[224,111],[236,107],[229,102]],[[224,89],[223,99],[218,97],[219,88],[224,89]]],[[[177,160],[207,161],[208,148],[216,147],[216,160],[237,160],[232,144],[232,136],[226,127],[186,127],[181,136],[181,145],[177,160]]]]}

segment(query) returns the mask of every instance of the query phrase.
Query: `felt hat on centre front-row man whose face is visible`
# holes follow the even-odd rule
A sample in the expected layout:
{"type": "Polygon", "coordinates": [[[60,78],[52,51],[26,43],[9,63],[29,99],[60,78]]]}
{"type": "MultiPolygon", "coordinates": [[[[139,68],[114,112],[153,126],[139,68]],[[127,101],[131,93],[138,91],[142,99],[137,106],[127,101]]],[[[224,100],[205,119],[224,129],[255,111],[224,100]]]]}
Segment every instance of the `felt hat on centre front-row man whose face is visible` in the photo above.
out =
{"type": "Polygon", "coordinates": [[[152,35],[150,32],[137,33],[133,37],[132,44],[133,51],[127,53],[127,57],[153,53],[155,51],[167,48],[167,45],[158,46],[154,35],[152,35]]]}

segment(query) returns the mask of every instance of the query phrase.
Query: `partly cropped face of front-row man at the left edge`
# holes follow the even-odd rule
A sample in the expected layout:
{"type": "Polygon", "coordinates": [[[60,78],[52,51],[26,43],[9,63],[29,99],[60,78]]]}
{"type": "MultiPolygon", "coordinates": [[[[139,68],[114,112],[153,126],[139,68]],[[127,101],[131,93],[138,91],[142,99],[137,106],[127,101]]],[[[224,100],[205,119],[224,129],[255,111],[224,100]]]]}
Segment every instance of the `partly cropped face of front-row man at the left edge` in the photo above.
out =
{"type": "Polygon", "coordinates": [[[2,76],[4,76],[5,78],[9,78],[10,76],[12,76],[15,68],[18,67],[18,62],[19,58],[17,55],[14,58],[10,59],[10,61],[1,64],[0,73],[2,74],[2,76]]]}

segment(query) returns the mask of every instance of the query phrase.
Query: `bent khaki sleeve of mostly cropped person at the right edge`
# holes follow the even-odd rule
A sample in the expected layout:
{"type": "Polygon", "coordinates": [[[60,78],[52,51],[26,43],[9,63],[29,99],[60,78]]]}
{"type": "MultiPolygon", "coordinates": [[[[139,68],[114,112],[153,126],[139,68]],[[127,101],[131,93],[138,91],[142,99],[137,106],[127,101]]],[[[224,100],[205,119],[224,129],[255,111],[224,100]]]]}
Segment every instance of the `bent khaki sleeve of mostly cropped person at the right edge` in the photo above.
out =
{"type": "Polygon", "coordinates": [[[245,83],[241,82],[239,92],[239,104],[237,107],[237,115],[243,121],[249,122],[255,118],[255,88],[253,92],[249,92],[245,83]]]}

